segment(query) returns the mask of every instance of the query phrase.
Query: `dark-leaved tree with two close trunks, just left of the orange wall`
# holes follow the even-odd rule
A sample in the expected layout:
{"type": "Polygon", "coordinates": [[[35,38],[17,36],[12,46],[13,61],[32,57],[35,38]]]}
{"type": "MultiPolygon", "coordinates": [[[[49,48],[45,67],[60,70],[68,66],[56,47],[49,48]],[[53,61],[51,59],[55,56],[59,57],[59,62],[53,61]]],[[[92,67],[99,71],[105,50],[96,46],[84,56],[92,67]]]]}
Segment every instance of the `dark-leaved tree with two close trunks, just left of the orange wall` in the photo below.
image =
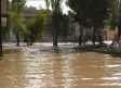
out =
{"type": "Polygon", "coordinates": [[[99,41],[99,33],[98,28],[99,26],[104,25],[104,22],[108,20],[109,17],[109,9],[112,7],[115,0],[92,0],[91,5],[90,5],[90,15],[91,15],[91,21],[94,24],[93,28],[93,42],[95,43],[96,36],[97,34],[97,40],[99,41]]]}

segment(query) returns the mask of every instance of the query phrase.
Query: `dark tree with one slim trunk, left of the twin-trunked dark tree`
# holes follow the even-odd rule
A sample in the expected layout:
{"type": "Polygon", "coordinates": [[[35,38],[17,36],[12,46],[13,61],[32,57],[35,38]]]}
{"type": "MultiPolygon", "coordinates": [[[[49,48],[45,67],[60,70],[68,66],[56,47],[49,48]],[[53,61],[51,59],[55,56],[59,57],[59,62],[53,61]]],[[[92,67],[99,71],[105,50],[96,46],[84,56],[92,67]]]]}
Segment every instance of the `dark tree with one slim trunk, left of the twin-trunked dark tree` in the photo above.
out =
{"type": "Polygon", "coordinates": [[[88,20],[89,16],[90,0],[68,0],[67,5],[75,13],[75,17],[73,17],[75,21],[78,22],[79,25],[81,26],[80,36],[79,36],[79,45],[81,45],[84,22],[88,20]]]}

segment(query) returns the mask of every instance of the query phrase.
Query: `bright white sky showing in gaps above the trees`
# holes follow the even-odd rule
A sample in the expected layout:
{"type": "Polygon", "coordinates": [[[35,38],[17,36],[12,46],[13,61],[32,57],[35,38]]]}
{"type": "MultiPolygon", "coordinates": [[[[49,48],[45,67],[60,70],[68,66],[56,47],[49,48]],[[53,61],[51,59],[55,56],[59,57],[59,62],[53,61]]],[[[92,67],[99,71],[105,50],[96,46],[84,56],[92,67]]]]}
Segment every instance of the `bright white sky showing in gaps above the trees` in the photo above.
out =
{"type": "MultiPolygon", "coordinates": [[[[67,11],[69,10],[69,8],[66,7],[65,1],[66,0],[64,0],[62,2],[62,7],[63,7],[63,13],[66,13],[67,14],[67,11]]],[[[30,5],[31,7],[37,7],[38,10],[40,9],[40,5],[41,5],[42,9],[45,9],[45,2],[44,2],[44,0],[28,0],[26,2],[26,5],[27,7],[30,7],[30,5]]]]}

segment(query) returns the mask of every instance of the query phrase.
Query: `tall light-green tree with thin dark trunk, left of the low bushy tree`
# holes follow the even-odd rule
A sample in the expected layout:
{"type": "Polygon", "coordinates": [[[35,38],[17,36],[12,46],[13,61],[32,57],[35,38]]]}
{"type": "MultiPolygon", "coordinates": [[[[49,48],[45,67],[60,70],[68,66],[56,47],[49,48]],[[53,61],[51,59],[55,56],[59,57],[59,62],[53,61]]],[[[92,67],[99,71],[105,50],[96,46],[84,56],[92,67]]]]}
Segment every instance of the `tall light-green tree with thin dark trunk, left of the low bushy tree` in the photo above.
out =
{"type": "Polygon", "coordinates": [[[12,13],[13,34],[16,36],[17,46],[19,46],[19,29],[23,29],[23,11],[26,0],[12,0],[10,2],[10,11],[12,13]]]}

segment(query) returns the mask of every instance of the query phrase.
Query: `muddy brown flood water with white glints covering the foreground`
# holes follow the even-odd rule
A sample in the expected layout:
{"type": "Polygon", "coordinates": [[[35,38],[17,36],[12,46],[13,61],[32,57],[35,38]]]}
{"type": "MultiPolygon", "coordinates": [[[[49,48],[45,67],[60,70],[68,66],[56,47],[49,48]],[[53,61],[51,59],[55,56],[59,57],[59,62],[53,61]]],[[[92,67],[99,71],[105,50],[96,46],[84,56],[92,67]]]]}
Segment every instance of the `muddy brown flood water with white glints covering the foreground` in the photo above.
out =
{"type": "Polygon", "coordinates": [[[76,47],[4,49],[0,88],[121,88],[121,58],[76,47]]]}

